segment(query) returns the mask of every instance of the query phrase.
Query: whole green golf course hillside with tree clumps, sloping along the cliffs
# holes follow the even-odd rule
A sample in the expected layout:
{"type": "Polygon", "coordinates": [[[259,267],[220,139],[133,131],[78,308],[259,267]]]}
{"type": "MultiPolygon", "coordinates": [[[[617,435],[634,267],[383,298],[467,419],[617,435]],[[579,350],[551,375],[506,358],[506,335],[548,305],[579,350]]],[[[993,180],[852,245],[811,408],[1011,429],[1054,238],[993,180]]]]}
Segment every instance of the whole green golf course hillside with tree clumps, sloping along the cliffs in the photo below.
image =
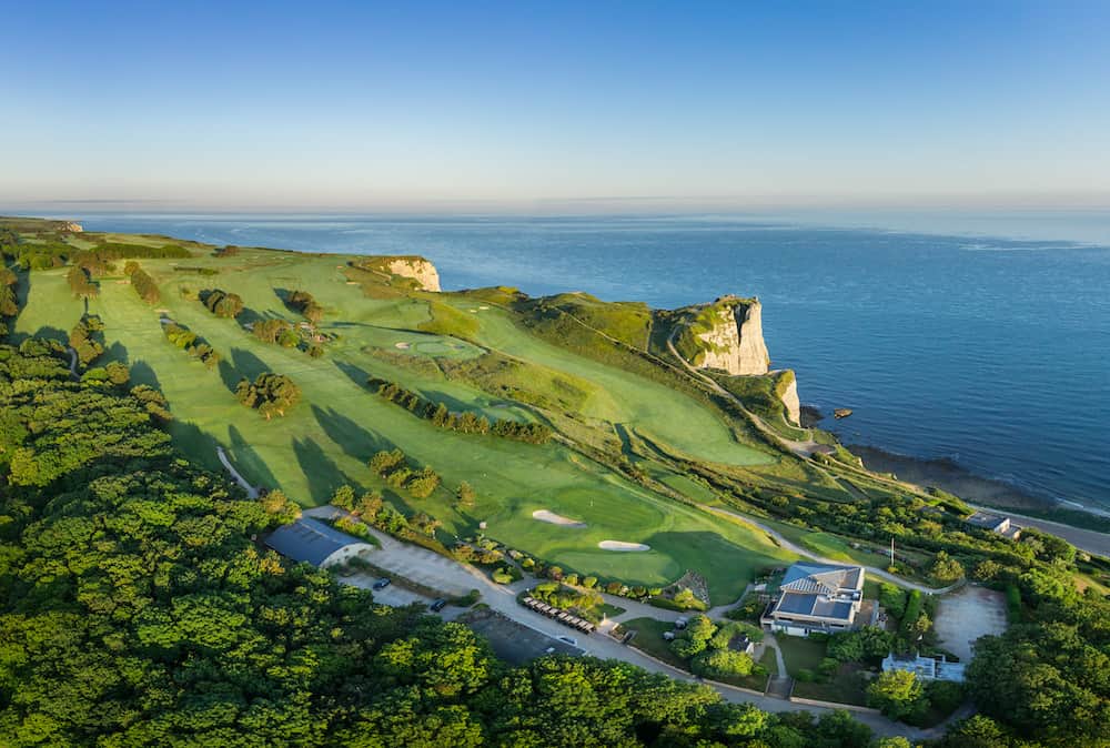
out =
{"type": "MultiPolygon", "coordinates": [[[[793,555],[707,507],[874,536],[881,546],[891,522],[868,517],[889,504],[905,515],[900,573],[926,576],[937,549],[912,537],[922,522],[915,506],[935,499],[906,497],[905,486],[850,456],[816,463],[791,451],[784,439],[809,432],[785,420],[783,375],[731,377],[726,397],[686,371],[659,338],[690,311],[585,294],[529,299],[505,287],[427,292],[434,269],[415,256],[0,224],[14,267],[14,342],[80,342],[84,377],[127,364],[132,382],[164,393],[167,428],[182,452],[221,469],[222,446],[252,485],[302,506],[326,503],[344,485],[380,491],[403,514],[432,517],[438,543],[484,524],[486,536],[544,563],[630,586],[697,572],[714,604],[793,555]],[[84,315],[95,330],[75,338],[84,315]],[[420,417],[379,394],[382,383],[443,414],[420,417]],[[403,452],[405,473],[370,467],[392,449],[403,452]],[[463,483],[473,501],[457,499],[463,483]],[[534,518],[544,509],[585,527],[534,518]],[[602,540],[650,550],[614,553],[602,540]]],[[[939,519],[958,526],[960,517],[939,519]]],[[[952,550],[970,565],[975,548],[952,550]]]]}

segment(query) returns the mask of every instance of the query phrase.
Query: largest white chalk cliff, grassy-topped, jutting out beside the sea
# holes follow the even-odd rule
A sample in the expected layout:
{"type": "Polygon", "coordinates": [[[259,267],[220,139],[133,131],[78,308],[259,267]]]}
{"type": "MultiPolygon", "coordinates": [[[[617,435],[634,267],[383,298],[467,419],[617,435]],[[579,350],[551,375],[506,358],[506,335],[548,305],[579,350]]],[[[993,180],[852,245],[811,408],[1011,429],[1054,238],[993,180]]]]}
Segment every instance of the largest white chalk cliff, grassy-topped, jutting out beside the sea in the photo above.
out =
{"type": "Polygon", "coordinates": [[[689,322],[686,346],[690,363],[729,374],[766,374],[770,355],[763,338],[763,307],[756,299],[726,296],[702,309],[689,322]],[[693,340],[690,340],[693,337],[693,340]]]}

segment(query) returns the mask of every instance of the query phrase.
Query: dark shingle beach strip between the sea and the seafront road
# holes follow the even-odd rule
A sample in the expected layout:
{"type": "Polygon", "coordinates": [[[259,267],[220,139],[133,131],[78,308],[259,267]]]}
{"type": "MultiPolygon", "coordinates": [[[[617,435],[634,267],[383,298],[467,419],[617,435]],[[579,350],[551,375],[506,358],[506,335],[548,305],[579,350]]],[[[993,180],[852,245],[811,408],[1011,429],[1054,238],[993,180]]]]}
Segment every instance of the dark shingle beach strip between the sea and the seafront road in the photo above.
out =
{"type": "Polygon", "coordinates": [[[1002,481],[976,475],[950,459],[908,457],[859,444],[846,446],[867,469],[894,473],[900,481],[919,486],[936,486],[977,509],[1005,513],[1017,525],[1043,529],[1077,548],[1110,557],[1110,513],[1035,496],[1002,481]]]}

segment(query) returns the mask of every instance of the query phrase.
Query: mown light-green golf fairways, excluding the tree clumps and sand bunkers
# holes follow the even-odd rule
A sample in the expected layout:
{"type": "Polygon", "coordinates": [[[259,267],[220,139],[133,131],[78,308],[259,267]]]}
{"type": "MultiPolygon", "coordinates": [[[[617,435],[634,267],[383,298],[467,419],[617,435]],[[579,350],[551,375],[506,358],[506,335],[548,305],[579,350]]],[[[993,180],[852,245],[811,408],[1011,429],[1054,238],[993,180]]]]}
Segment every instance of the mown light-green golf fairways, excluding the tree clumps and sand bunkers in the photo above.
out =
{"type": "MultiPolygon", "coordinates": [[[[440,518],[445,540],[473,534],[480,522],[486,522],[491,537],[583,574],[664,585],[695,569],[708,579],[715,604],[735,599],[755,569],[793,558],[755,528],[720,522],[650,493],[568,446],[447,432],[365,387],[369,376],[380,376],[446,402],[454,411],[498,418],[535,417],[527,406],[466,381],[448,380],[435,363],[473,360],[490,348],[562,372],[567,381],[587,383],[587,420],[627,424],[677,452],[705,459],[735,465],[776,459],[737,443],[713,412],[687,395],[536,341],[500,310],[471,314],[473,302],[445,297],[477,321],[471,343],[418,332],[430,320],[427,302],[420,294],[366,297],[361,286],[347,282],[342,257],[242,250],[231,259],[205,254],[188,261],[141,260],[140,264],[158,281],[162,300],[148,305],[125,279],[101,279],[100,296],[88,305],[105,323],[107,353],[98,363],[128,363],[133,382],[160,387],[175,416],[171,425],[175,443],[213,469],[220,469],[215,445],[222,444],[250,482],[280,487],[304,506],[326,502],[344,483],[356,489],[380,488],[400,508],[440,518]],[[175,263],[219,273],[175,271],[175,263]],[[213,316],[195,299],[202,289],[240,294],[246,312],[239,320],[213,316]],[[324,305],[321,330],[337,336],[326,344],[321,358],[261,343],[242,326],[273,316],[299,322],[279,295],[294,289],[309,291],[324,305]],[[221,354],[219,371],[208,371],[165,341],[160,310],[221,354]],[[405,357],[426,360],[426,365],[414,367],[405,357]],[[253,378],[265,371],[287,374],[303,392],[300,405],[271,422],[242,407],[233,395],[241,377],[253,378]],[[387,489],[366,461],[374,452],[393,446],[421,465],[434,467],[444,487],[418,502],[387,489]],[[451,491],[461,481],[471,483],[478,494],[476,505],[466,513],[453,508],[451,491]],[[581,519],[587,527],[573,529],[533,519],[532,513],[541,508],[581,519]],[[603,539],[644,543],[652,549],[607,552],[597,547],[603,539]]],[[[84,304],[72,299],[64,275],[65,269],[31,275],[17,335],[38,333],[64,340],[84,312],[84,304]]],[[[654,474],[684,493],[709,493],[663,466],[654,474]]]]}

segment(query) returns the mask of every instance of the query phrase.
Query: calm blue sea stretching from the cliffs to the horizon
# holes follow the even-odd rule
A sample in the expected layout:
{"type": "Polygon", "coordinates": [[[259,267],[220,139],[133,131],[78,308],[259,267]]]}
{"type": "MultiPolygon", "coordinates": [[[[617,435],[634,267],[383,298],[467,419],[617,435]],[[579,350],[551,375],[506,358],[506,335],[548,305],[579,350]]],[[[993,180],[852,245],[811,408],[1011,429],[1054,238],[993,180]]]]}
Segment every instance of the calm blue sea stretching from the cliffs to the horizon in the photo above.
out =
{"type": "Polygon", "coordinates": [[[445,289],[675,307],[757,295],[774,366],[841,438],[1110,508],[1110,220],[89,214],[87,230],[422,254],[445,289]],[[842,224],[829,228],[830,224],[842,224]],[[1080,231],[1069,231],[1079,225],[1080,231]],[[1007,237],[1009,236],[1009,237],[1007,237]],[[1076,241],[1064,241],[1078,239],[1076,241]]]}

